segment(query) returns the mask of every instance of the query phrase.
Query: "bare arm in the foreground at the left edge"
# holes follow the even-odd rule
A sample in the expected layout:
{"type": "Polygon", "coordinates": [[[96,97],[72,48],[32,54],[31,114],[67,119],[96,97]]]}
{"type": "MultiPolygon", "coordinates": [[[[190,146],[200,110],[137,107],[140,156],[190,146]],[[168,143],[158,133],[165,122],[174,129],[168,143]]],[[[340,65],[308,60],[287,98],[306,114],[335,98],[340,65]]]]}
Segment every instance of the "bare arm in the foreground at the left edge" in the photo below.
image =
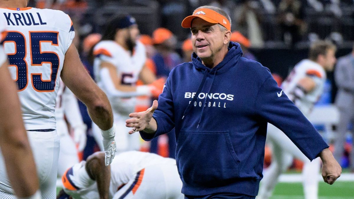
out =
{"type": "Polygon", "coordinates": [[[0,146],[16,195],[29,197],[38,190],[39,182],[20,107],[5,63],[0,67],[0,146]]]}

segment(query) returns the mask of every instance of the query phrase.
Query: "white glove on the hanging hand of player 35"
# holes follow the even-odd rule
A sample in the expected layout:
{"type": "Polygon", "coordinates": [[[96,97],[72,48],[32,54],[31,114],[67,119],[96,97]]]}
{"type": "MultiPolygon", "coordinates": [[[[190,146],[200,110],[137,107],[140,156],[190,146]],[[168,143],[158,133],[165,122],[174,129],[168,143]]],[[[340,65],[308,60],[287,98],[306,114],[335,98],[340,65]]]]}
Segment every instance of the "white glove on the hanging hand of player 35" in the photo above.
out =
{"type": "Polygon", "coordinates": [[[114,141],[115,125],[107,131],[101,130],[103,149],[104,149],[104,163],[106,166],[110,165],[113,161],[116,152],[116,145],[114,141]]]}

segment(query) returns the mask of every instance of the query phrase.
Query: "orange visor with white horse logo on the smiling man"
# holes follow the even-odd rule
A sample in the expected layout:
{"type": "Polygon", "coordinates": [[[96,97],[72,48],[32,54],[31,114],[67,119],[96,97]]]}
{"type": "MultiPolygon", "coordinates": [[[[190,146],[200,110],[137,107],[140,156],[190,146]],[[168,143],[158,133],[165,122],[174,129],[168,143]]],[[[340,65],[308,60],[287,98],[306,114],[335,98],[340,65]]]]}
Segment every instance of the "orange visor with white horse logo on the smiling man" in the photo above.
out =
{"type": "Polygon", "coordinates": [[[210,22],[210,23],[218,23],[225,27],[228,30],[231,30],[231,24],[229,20],[224,17],[223,15],[220,15],[219,13],[210,10],[208,8],[200,8],[196,11],[194,11],[193,15],[190,15],[186,18],[183,19],[182,21],[182,27],[183,28],[190,28],[192,25],[192,20],[195,17],[199,17],[203,19],[204,21],[210,22]]]}

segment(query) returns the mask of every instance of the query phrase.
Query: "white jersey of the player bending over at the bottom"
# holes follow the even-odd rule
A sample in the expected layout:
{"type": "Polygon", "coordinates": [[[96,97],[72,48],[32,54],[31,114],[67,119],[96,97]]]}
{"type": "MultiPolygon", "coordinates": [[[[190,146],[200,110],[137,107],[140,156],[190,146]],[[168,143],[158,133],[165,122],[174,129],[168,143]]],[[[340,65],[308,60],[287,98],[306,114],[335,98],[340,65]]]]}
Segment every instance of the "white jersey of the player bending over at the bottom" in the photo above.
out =
{"type": "MultiPolygon", "coordinates": [[[[123,152],[116,155],[112,164],[110,164],[109,198],[112,198],[119,188],[128,183],[138,171],[145,167],[159,164],[176,165],[176,160],[164,158],[154,153],[138,151],[123,152]]],[[[70,167],[63,175],[62,182],[64,190],[71,191],[70,195],[74,198],[99,198],[97,183],[87,174],[85,161],[70,167]]]]}

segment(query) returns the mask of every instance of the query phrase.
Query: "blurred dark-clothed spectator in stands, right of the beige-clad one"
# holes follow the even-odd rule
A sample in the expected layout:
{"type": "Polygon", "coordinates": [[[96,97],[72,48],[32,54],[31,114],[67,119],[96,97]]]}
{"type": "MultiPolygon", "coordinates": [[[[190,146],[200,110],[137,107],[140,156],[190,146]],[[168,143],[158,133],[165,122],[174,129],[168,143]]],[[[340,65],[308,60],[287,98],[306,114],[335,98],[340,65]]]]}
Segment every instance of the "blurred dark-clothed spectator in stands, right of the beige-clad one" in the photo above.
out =
{"type": "Polygon", "coordinates": [[[278,13],[282,38],[285,43],[293,45],[300,41],[305,28],[301,1],[282,0],[278,7],[278,13]]]}

